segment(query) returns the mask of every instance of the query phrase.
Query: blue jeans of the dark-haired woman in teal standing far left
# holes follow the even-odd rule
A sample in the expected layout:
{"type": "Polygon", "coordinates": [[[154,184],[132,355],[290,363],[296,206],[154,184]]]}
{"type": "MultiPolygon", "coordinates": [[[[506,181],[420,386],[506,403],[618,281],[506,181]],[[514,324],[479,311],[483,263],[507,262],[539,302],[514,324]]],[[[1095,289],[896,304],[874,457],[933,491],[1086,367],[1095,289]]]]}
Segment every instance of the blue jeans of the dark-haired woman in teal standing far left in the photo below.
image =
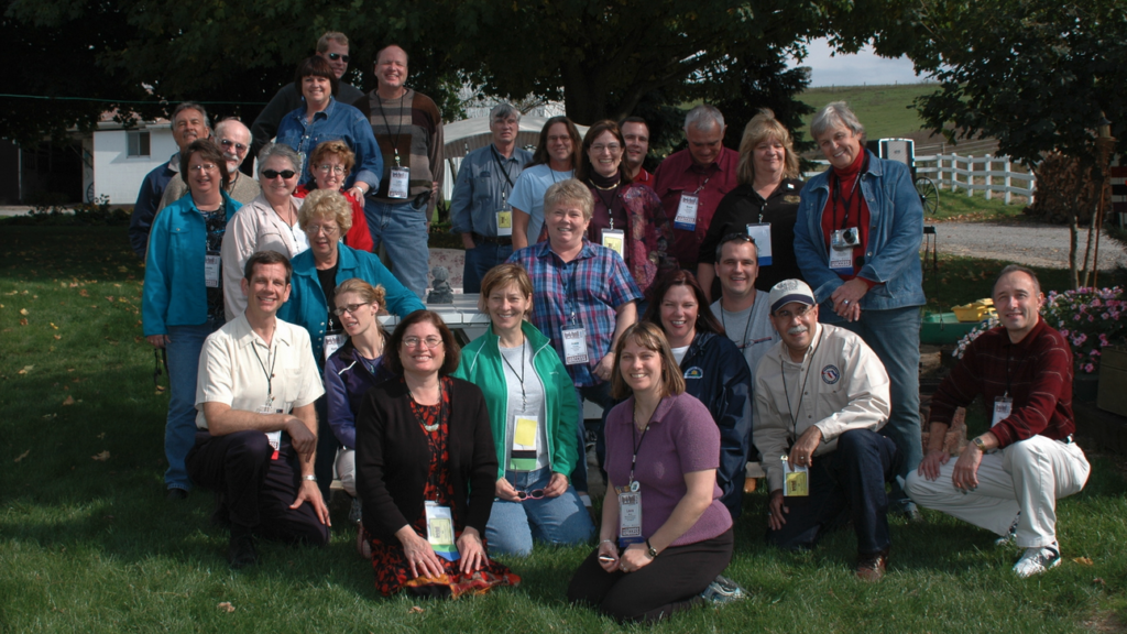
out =
{"type": "Polygon", "coordinates": [[[168,343],[168,420],[165,423],[165,457],[168,488],[192,490],[192,478],[184,459],[196,443],[196,375],[204,340],[223,324],[208,319],[198,326],[169,326],[168,343]]]}

